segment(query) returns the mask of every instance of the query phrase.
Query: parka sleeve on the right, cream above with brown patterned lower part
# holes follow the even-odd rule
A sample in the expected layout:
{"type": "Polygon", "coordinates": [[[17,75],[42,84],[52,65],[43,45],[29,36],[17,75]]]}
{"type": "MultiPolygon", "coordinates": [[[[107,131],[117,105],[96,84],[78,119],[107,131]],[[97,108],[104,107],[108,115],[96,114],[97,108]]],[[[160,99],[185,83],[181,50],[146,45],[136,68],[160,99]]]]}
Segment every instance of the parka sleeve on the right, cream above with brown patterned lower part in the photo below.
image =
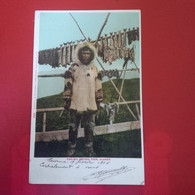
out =
{"type": "Polygon", "coordinates": [[[95,86],[96,102],[102,102],[103,101],[103,91],[102,91],[102,75],[101,75],[101,73],[97,74],[95,85],[96,85],[95,86]]]}

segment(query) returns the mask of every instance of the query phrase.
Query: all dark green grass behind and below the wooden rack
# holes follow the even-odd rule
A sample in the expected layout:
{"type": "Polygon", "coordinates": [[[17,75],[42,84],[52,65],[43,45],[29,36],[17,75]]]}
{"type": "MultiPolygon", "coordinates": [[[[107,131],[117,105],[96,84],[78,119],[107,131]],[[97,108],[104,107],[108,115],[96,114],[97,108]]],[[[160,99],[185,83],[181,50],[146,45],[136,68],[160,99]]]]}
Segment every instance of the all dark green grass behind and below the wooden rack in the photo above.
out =
{"type": "MultiPolygon", "coordinates": [[[[120,88],[121,79],[113,80],[120,88]]],[[[118,94],[110,82],[103,83],[104,103],[118,101],[118,94]]],[[[127,79],[124,82],[123,93],[126,101],[139,100],[139,79],[127,79]]],[[[62,93],[40,98],[37,100],[37,108],[63,107],[62,93]]],[[[130,105],[135,113],[135,105],[130,105]]],[[[46,131],[68,129],[69,113],[65,112],[60,118],[60,111],[48,112],[46,131]]],[[[36,131],[42,129],[43,113],[37,113],[36,131]]],[[[125,105],[121,105],[115,117],[114,123],[133,121],[133,117],[125,105]]],[[[109,124],[105,111],[101,111],[96,125],[109,124]]],[[[35,144],[35,157],[66,157],[67,141],[37,142],[35,144]]],[[[96,157],[115,158],[141,158],[141,133],[140,130],[132,130],[114,134],[100,135],[94,137],[94,151],[96,157]]],[[[84,138],[77,141],[75,157],[84,157],[84,138]]]]}

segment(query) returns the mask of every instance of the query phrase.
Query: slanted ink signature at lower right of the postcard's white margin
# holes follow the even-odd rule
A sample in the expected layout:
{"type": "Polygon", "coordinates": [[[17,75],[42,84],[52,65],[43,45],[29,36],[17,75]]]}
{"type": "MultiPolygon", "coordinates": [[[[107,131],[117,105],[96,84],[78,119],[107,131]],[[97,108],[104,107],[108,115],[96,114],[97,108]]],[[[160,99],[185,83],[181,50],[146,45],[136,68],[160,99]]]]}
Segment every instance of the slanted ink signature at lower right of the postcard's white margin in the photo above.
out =
{"type": "Polygon", "coordinates": [[[113,177],[122,173],[126,173],[128,171],[132,171],[133,169],[135,169],[135,167],[128,167],[128,166],[122,166],[119,169],[111,169],[111,170],[105,170],[105,171],[98,171],[98,172],[94,172],[90,175],[87,175],[85,177],[83,177],[83,180],[91,180],[91,179],[95,179],[97,180],[96,183],[103,181],[109,177],[113,177]]]}

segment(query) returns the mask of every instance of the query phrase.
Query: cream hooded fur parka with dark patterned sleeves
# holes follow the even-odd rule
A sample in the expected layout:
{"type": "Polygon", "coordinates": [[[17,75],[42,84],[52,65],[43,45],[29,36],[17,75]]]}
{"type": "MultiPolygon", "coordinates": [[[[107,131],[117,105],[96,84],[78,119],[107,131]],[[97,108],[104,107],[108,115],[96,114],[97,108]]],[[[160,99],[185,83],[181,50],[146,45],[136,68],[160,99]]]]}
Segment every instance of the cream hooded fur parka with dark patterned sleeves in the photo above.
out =
{"type": "Polygon", "coordinates": [[[64,99],[71,100],[70,109],[77,112],[96,111],[97,102],[103,100],[101,74],[94,64],[95,58],[95,47],[91,43],[81,43],[76,48],[75,63],[65,72],[64,99]],[[92,51],[92,59],[88,65],[79,60],[79,51],[84,47],[92,51]]]}

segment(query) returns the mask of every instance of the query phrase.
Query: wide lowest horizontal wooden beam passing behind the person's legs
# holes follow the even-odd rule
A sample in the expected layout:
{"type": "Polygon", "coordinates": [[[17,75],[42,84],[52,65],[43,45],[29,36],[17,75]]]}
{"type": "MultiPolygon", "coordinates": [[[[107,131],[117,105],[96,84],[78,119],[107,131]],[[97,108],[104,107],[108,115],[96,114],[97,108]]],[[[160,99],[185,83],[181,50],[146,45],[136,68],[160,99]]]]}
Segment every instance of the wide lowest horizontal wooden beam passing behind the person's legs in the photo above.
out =
{"type": "MultiPolygon", "coordinates": [[[[96,126],[94,130],[94,136],[96,135],[105,135],[110,133],[118,133],[129,130],[138,130],[141,129],[140,121],[131,121],[131,122],[123,122],[116,123],[112,125],[102,125],[96,126]]],[[[48,132],[36,132],[35,141],[63,141],[68,140],[68,129],[67,130],[56,130],[56,131],[48,131],[48,132]]],[[[78,130],[78,138],[84,137],[84,128],[78,130]]]]}

